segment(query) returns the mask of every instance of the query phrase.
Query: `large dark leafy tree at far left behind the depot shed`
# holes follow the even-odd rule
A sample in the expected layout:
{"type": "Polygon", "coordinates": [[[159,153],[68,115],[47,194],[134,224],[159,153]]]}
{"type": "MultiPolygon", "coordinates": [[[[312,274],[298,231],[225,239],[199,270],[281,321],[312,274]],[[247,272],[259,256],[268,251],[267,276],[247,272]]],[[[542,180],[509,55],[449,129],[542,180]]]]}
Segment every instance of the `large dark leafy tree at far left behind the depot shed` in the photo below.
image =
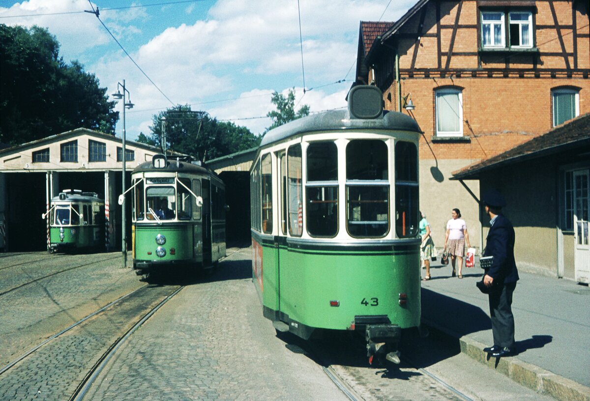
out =
{"type": "Polygon", "coordinates": [[[88,128],[114,134],[119,113],[83,65],[66,64],[45,28],[0,24],[0,142],[88,128]]]}

